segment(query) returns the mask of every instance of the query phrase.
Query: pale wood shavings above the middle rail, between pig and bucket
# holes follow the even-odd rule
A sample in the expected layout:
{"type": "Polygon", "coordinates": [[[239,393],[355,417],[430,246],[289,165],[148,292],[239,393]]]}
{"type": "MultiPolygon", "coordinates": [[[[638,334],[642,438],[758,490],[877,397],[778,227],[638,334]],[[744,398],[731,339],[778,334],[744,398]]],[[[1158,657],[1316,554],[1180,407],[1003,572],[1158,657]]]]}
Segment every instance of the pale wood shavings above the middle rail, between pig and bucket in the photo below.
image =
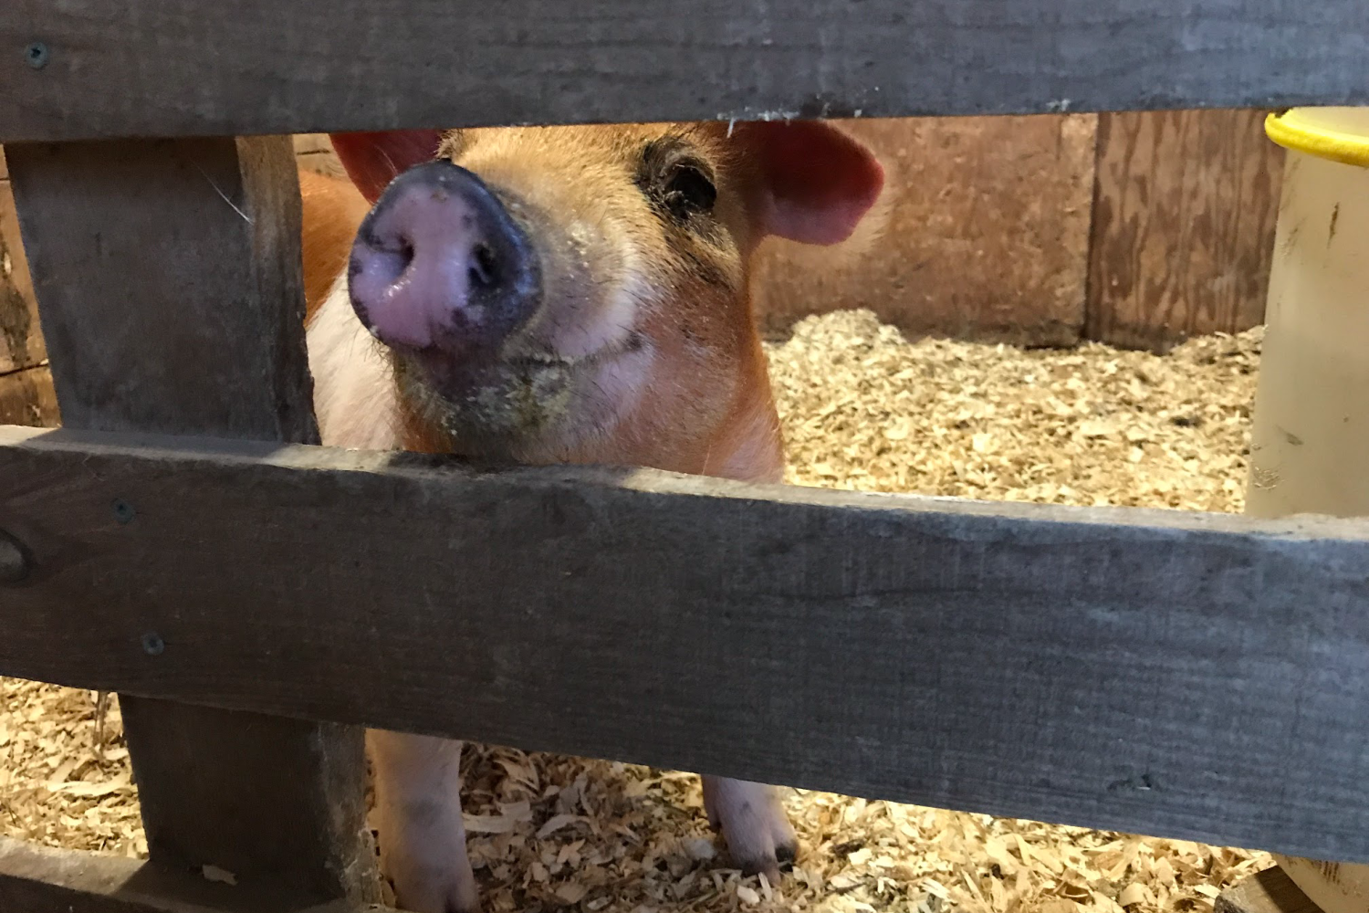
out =
{"type": "Polygon", "coordinates": [[[1155,356],[908,344],[869,312],[810,318],[769,346],[790,480],[1239,512],[1261,338],[1155,356]]]}

